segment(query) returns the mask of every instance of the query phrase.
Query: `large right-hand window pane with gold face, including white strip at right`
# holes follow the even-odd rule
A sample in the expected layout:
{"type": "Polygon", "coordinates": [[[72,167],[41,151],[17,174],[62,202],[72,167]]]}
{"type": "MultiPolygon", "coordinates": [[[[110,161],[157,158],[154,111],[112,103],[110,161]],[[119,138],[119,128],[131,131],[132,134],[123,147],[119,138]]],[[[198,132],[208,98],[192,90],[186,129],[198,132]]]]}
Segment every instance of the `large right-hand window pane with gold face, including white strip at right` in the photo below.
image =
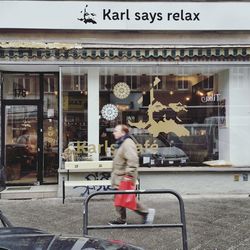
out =
{"type": "Polygon", "coordinates": [[[124,66],[100,72],[100,159],[112,158],[112,128],[125,123],[141,166],[250,163],[238,153],[242,143],[250,146],[249,68],[124,66]]]}

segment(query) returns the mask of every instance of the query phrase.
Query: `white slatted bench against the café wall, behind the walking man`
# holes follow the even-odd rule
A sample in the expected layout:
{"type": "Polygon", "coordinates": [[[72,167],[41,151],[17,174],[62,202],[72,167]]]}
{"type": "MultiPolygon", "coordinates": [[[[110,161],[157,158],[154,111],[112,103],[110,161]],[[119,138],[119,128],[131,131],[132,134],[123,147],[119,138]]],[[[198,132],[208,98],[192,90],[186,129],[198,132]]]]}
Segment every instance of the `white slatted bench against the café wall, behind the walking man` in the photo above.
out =
{"type": "MultiPolygon", "coordinates": [[[[111,172],[113,161],[74,161],[65,162],[65,170],[67,171],[66,180],[62,180],[62,196],[63,204],[65,201],[66,187],[86,187],[87,193],[91,187],[95,186],[111,186],[111,180],[72,180],[70,173],[90,173],[90,172],[111,172]]],[[[137,188],[140,187],[139,180],[136,182],[137,188]]]]}

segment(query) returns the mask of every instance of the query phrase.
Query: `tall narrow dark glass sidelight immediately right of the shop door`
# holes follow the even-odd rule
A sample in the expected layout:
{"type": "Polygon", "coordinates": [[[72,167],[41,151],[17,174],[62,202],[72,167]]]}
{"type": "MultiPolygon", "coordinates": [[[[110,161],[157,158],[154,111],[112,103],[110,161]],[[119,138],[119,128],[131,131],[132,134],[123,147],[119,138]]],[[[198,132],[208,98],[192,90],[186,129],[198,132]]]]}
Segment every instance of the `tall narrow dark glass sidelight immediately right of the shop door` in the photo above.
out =
{"type": "Polygon", "coordinates": [[[44,171],[43,181],[57,182],[58,170],[58,77],[44,75],[44,171]]]}

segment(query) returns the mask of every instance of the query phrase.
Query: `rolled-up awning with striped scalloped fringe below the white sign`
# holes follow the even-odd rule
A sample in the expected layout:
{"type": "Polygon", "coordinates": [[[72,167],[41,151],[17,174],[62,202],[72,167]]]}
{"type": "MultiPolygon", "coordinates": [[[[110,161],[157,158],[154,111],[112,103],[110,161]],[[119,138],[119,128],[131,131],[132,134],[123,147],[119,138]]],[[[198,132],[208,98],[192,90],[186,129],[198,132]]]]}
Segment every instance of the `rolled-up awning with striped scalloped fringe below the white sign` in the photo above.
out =
{"type": "MultiPolygon", "coordinates": [[[[39,45],[39,44],[38,44],[39,45]]],[[[0,43],[0,61],[249,61],[249,47],[95,48],[0,43]]],[[[121,46],[122,47],[122,46],[121,46]]]]}

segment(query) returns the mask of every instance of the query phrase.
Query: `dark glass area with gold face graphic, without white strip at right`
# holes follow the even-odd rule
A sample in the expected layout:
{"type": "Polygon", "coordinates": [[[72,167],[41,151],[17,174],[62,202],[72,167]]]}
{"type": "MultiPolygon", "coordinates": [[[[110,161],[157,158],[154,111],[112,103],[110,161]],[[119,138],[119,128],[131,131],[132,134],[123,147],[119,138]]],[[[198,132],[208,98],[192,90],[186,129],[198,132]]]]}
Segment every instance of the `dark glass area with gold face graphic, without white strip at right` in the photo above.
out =
{"type": "Polygon", "coordinates": [[[192,71],[158,76],[141,71],[100,76],[99,158],[112,158],[112,129],[125,123],[131,127],[141,166],[202,166],[218,159],[218,123],[211,117],[218,116],[219,95],[217,85],[211,85],[213,78],[206,85],[207,77],[192,71]],[[136,89],[128,79],[137,82],[136,89]]]}

